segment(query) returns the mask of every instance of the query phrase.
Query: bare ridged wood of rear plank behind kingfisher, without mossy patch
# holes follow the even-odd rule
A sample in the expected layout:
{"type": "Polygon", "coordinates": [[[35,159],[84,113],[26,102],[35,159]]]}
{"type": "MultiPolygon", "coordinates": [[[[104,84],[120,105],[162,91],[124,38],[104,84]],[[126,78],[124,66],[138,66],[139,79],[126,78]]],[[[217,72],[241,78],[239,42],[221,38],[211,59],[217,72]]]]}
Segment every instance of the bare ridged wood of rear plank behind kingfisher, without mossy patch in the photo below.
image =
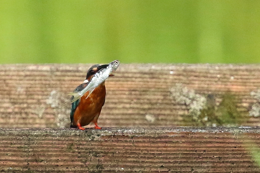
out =
{"type": "MultiPolygon", "coordinates": [[[[55,128],[69,124],[70,96],[84,81],[92,64],[0,65],[0,127],[55,128]]],[[[195,93],[241,96],[240,111],[257,101],[251,91],[260,88],[260,65],[121,64],[106,81],[107,96],[100,127],[183,126],[185,104],[171,97],[182,84],[195,93]]],[[[259,118],[242,125],[259,126],[259,118]]]]}

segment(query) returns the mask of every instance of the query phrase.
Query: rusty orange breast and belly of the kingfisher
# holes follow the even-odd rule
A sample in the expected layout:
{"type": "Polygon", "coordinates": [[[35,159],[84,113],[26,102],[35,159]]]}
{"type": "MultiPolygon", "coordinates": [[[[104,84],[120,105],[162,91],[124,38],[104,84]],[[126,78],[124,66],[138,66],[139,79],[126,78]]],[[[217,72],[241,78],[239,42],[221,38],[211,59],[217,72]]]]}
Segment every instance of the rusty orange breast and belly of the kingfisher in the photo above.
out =
{"type": "Polygon", "coordinates": [[[73,125],[77,123],[80,123],[81,126],[88,125],[96,115],[100,114],[106,97],[105,82],[96,87],[86,99],[88,94],[89,91],[80,98],[80,103],[73,115],[73,125]]]}

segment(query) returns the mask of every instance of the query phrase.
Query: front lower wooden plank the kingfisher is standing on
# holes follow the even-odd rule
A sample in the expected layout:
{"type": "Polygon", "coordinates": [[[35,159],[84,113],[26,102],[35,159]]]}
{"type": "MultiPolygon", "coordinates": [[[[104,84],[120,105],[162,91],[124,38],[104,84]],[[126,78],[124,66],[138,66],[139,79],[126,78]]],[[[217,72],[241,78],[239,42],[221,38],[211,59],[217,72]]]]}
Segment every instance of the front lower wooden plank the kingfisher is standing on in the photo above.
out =
{"type": "Polygon", "coordinates": [[[0,172],[260,171],[259,128],[0,129],[0,141],[0,172]]]}

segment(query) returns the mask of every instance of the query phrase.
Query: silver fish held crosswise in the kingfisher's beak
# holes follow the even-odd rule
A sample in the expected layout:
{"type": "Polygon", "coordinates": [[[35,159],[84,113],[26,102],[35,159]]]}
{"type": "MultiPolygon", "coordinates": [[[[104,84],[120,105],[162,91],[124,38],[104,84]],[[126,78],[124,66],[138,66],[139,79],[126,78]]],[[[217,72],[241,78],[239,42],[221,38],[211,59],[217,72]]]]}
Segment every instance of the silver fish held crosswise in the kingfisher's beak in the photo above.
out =
{"type": "MultiPolygon", "coordinates": [[[[118,66],[118,60],[110,62],[106,68],[103,68],[96,72],[96,74],[94,74],[94,76],[91,78],[91,80],[88,82],[87,86],[84,89],[82,89],[79,92],[71,92],[70,94],[68,94],[74,96],[74,98],[71,100],[71,103],[80,99],[88,91],[89,96],[99,84],[104,82],[109,77],[109,75],[118,68],[118,66]]],[[[86,99],[88,98],[88,96],[86,97],[86,99]]]]}

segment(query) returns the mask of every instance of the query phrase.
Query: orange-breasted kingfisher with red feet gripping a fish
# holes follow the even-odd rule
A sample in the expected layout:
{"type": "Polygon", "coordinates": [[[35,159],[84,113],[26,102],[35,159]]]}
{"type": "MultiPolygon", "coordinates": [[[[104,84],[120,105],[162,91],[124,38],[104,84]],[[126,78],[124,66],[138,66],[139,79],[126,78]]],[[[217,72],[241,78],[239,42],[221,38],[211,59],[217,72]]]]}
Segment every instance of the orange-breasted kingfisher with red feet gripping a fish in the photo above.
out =
{"type": "MultiPolygon", "coordinates": [[[[96,64],[89,68],[86,75],[86,80],[79,85],[74,92],[83,90],[90,82],[92,77],[101,69],[106,68],[109,64],[96,64]]],[[[114,76],[109,74],[109,76],[114,76]]],[[[105,103],[106,87],[105,80],[99,84],[93,91],[87,91],[82,97],[72,103],[70,111],[70,127],[85,130],[83,126],[93,122],[95,129],[101,129],[97,125],[97,119],[101,112],[102,106],[105,103]]],[[[73,100],[74,96],[71,97],[73,100]]]]}

